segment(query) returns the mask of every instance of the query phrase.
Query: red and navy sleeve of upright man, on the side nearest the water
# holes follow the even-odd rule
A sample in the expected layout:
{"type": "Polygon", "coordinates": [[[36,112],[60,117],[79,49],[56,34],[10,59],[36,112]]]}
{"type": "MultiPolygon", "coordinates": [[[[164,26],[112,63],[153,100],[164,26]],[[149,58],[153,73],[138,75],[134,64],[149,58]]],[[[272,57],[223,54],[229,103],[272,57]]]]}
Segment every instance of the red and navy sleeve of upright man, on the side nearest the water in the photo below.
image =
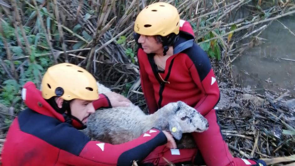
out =
{"type": "Polygon", "coordinates": [[[194,44],[193,47],[194,50],[190,52],[193,63],[189,70],[194,82],[201,89],[202,95],[195,108],[202,115],[206,115],[218,103],[220,93],[207,54],[199,46],[194,44]]]}

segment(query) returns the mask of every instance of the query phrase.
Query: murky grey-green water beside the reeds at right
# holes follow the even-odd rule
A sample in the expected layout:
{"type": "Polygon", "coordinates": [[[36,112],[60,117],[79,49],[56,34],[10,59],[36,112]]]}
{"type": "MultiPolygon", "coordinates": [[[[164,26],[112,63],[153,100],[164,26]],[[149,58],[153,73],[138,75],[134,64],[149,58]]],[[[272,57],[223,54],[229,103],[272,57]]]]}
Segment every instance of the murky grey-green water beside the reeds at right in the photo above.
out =
{"type": "MultiPolygon", "coordinates": [[[[295,34],[295,15],[279,19],[295,34]]],[[[295,36],[277,21],[259,36],[264,43],[247,49],[233,62],[233,74],[242,86],[250,85],[257,92],[264,88],[295,96],[295,36]]]]}

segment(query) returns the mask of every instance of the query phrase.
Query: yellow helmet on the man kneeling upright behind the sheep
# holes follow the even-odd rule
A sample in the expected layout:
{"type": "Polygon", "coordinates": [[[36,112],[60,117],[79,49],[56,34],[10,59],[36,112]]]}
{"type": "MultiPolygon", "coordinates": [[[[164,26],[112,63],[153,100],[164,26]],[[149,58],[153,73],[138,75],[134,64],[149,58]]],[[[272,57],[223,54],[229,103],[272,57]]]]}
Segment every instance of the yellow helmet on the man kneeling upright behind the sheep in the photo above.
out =
{"type": "Polygon", "coordinates": [[[141,35],[167,36],[170,33],[179,33],[179,13],[177,9],[164,2],[153,3],[138,14],[134,31],[141,35]]]}

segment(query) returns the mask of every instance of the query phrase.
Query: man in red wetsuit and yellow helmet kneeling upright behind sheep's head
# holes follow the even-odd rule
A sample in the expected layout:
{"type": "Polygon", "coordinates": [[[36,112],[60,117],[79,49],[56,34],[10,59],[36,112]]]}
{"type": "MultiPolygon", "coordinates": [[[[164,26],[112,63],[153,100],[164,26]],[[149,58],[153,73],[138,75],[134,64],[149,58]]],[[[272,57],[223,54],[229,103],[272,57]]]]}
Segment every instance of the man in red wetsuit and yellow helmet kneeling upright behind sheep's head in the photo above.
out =
{"type": "MultiPolygon", "coordinates": [[[[170,102],[183,101],[209,121],[207,131],[192,133],[199,152],[193,160],[207,166],[266,166],[262,160],[233,158],[229,153],[213,109],[220,95],[210,60],[194,42],[190,23],[180,20],[177,9],[168,3],[147,6],[138,14],[134,31],[149,113],[170,102]]],[[[191,153],[182,150],[179,155],[187,155],[189,161],[191,153]]],[[[173,156],[167,159],[171,161],[173,156]]],[[[158,164],[153,160],[145,163],[158,164]]]]}

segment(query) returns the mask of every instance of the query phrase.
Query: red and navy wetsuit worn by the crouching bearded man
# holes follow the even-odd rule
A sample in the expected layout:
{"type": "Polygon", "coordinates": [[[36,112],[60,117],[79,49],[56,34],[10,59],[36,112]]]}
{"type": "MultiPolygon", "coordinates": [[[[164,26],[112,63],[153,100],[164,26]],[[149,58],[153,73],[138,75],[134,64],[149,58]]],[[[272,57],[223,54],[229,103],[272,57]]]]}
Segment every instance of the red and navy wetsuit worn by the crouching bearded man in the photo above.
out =
{"type": "MultiPolygon", "coordinates": [[[[3,166],[106,166],[131,165],[142,161],[156,147],[167,142],[162,131],[151,129],[137,139],[119,145],[91,141],[75,127],[73,120],[65,122],[42,98],[32,82],[26,83],[23,99],[29,107],[13,120],[2,152],[3,166]]],[[[96,107],[109,107],[101,95],[96,107]]],[[[161,152],[162,153],[162,152],[161,152]]]]}

